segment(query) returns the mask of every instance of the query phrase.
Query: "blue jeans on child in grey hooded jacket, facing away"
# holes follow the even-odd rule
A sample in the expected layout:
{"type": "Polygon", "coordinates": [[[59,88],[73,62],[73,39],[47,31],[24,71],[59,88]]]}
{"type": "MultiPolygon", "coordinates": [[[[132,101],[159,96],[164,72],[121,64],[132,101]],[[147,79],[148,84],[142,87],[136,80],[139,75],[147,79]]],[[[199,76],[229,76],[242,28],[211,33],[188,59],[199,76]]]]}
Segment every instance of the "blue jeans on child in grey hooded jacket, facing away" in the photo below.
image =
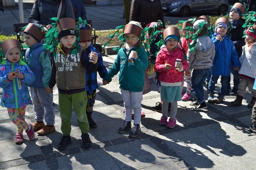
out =
{"type": "Polygon", "coordinates": [[[211,68],[194,69],[191,74],[191,91],[194,92],[198,103],[204,102],[204,81],[211,73],[211,68]]]}

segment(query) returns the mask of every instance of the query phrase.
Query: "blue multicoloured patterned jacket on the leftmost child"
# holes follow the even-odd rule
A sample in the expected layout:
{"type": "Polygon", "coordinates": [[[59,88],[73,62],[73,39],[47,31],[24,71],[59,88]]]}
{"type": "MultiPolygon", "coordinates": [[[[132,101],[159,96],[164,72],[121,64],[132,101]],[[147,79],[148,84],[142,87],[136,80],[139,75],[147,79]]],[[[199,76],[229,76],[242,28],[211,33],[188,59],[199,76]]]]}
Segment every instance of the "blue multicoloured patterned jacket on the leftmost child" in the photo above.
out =
{"type": "Polygon", "coordinates": [[[31,103],[28,92],[28,85],[35,80],[35,74],[31,71],[28,65],[21,61],[11,63],[7,60],[0,64],[0,87],[3,88],[1,106],[6,108],[21,108],[31,103]],[[13,81],[8,80],[9,72],[19,69],[24,74],[24,79],[20,79],[21,89],[19,89],[17,78],[13,81]]]}

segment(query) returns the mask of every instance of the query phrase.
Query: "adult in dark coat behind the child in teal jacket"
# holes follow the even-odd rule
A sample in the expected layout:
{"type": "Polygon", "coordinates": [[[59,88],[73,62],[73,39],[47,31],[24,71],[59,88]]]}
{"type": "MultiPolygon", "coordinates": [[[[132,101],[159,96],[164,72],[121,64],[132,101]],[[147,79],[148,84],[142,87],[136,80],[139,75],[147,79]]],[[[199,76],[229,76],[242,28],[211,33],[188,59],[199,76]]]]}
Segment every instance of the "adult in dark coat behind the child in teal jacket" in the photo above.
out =
{"type": "MultiPolygon", "coordinates": [[[[161,20],[164,23],[163,8],[160,0],[132,0],[130,21],[141,23],[145,28],[148,23],[161,20]]],[[[165,25],[163,24],[165,28],[165,25]]]]}

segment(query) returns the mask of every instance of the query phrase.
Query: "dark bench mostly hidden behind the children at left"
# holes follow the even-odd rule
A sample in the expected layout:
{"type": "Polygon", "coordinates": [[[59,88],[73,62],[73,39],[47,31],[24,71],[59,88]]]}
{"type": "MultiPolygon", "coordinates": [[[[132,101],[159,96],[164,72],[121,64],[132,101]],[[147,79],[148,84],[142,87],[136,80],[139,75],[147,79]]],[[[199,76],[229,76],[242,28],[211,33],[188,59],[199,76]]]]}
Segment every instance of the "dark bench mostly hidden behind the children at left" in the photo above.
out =
{"type": "MultiPolygon", "coordinates": [[[[87,20],[87,23],[92,26],[92,20],[87,20]]],[[[24,41],[20,39],[21,32],[23,32],[22,28],[26,25],[28,25],[28,23],[14,23],[13,24],[13,28],[14,28],[14,32],[16,32],[17,40],[20,41],[21,43],[24,43],[24,41]]],[[[96,39],[98,37],[99,36],[96,35],[96,30],[94,28],[92,28],[92,45],[94,47],[96,47],[96,39]]]]}

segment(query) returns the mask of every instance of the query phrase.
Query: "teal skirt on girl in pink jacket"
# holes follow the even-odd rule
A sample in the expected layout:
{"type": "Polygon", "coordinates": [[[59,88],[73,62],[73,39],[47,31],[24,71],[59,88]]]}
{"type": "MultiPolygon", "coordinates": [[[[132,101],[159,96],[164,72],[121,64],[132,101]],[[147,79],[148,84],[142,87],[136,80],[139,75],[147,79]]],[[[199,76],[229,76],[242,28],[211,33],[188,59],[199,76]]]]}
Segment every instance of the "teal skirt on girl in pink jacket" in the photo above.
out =
{"type": "Polygon", "coordinates": [[[173,103],[181,101],[181,86],[163,86],[161,85],[161,100],[173,103]]]}

